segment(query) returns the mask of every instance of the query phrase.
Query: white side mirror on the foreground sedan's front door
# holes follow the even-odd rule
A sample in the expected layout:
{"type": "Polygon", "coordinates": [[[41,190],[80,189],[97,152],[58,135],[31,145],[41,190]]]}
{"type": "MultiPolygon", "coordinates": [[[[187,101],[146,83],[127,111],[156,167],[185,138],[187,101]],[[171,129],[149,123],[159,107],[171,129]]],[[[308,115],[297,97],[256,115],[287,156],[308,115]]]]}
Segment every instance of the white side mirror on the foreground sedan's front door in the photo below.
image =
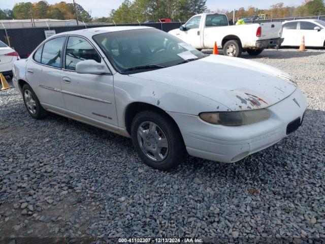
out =
{"type": "Polygon", "coordinates": [[[80,61],[76,65],[76,72],[79,74],[110,74],[110,70],[104,62],[98,63],[93,59],[80,61]]]}

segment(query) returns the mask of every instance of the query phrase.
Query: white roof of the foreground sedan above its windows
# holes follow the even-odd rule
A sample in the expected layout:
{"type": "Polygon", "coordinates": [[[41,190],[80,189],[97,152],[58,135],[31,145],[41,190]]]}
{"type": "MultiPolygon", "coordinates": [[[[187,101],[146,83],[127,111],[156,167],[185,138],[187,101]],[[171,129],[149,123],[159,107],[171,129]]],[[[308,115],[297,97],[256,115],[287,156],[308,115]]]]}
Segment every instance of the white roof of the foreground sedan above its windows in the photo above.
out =
{"type": "Polygon", "coordinates": [[[52,37],[62,36],[62,35],[80,35],[80,36],[91,38],[92,36],[98,35],[98,34],[110,33],[110,32],[121,32],[121,31],[131,31],[133,29],[154,29],[154,28],[148,27],[148,26],[106,26],[106,27],[78,29],[77,31],[71,31],[71,32],[62,32],[62,33],[58,33],[52,37]]]}

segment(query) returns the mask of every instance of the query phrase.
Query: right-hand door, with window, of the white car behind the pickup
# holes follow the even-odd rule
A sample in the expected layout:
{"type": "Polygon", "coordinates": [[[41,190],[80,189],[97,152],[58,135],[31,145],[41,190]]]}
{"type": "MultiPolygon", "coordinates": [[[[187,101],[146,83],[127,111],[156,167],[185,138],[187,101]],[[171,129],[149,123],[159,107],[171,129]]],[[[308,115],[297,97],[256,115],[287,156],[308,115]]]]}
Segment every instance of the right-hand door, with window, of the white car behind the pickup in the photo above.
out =
{"type": "MultiPolygon", "coordinates": [[[[324,36],[321,31],[314,29],[317,27],[315,23],[309,21],[300,21],[299,39],[305,37],[305,45],[310,47],[322,47],[324,44],[324,36]]],[[[318,26],[320,27],[320,26],[318,26]]]]}

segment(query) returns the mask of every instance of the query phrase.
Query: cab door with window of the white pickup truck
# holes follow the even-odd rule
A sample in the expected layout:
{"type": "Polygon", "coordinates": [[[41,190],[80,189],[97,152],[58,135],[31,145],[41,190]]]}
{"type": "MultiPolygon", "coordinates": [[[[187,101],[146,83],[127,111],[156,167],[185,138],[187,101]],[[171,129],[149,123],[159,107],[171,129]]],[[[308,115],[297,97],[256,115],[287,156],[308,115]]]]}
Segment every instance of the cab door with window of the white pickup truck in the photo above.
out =
{"type": "Polygon", "coordinates": [[[181,32],[181,39],[195,48],[202,48],[201,46],[201,32],[200,23],[202,16],[193,16],[190,18],[184,27],[184,32],[181,32]]]}

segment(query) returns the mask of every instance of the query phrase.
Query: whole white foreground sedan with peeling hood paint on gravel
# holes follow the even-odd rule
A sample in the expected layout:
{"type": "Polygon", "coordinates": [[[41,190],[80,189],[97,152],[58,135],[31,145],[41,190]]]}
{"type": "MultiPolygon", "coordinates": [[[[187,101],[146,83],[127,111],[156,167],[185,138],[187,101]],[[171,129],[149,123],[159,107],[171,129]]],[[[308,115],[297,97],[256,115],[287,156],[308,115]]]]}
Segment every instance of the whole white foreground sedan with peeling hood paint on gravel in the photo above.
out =
{"type": "Polygon", "coordinates": [[[187,153],[239,161],[298,129],[306,109],[288,74],[142,26],[57,34],[15,62],[13,83],[30,116],[49,111],[131,137],[160,170],[187,153]]]}

